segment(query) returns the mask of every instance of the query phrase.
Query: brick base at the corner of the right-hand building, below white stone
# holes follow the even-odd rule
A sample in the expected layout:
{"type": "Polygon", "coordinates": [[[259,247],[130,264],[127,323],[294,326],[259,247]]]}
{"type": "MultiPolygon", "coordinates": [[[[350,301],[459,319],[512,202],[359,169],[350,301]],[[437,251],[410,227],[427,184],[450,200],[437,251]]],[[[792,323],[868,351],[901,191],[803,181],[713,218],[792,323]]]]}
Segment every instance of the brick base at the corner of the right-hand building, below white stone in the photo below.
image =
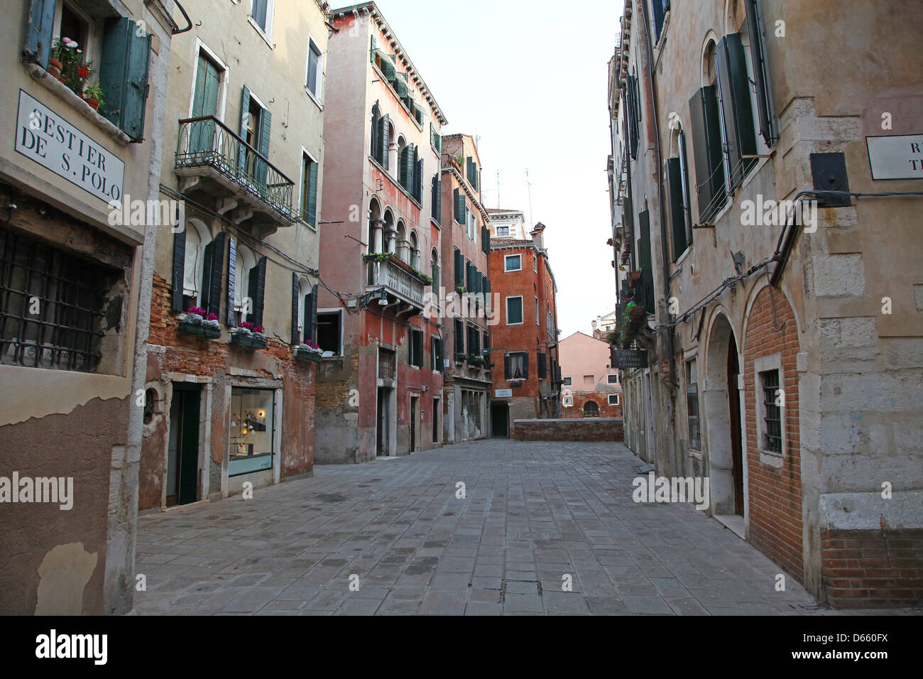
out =
{"type": "Polygon", "coordinates": [[[923,528],[821,531],[821,581],[834,608],[919,605],[923,528]]]}

